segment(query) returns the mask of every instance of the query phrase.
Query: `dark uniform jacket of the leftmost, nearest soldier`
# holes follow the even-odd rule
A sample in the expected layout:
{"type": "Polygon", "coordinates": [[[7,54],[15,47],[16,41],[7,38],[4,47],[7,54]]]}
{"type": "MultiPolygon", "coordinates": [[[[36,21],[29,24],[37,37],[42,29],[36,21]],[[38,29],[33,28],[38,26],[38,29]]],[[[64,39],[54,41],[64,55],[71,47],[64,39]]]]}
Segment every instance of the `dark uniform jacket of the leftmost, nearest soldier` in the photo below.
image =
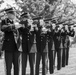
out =
{"type": "MultiPolygon", "coordinates": [[[[2,20],[1,27],[3,25],[13,24],[13,21],[10,21],[8,18],[5,20],[2,20]]],[[[5,51],[17,51],[17,45],[15,43],[14,34],[10,27],[8,28],[1,28],[1,30],[4,32],[4,42],[2,50],[5,51]]]]}

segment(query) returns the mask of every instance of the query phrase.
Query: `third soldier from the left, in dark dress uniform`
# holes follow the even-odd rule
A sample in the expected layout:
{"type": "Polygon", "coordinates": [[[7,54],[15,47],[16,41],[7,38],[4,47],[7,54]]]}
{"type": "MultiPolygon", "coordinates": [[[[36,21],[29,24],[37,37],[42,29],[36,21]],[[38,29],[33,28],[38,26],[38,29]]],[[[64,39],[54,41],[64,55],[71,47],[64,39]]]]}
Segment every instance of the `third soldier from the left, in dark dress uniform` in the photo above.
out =
{"type": "Polygon", "coordinates": [[[44,27],[43,19],[39,20],[38,31],[36,31],[36,67],[35,75],[39,75],[39,65],[42,58],[42,75],[46,75],[46,55],[47,55],[47,29],[44,27]]]}

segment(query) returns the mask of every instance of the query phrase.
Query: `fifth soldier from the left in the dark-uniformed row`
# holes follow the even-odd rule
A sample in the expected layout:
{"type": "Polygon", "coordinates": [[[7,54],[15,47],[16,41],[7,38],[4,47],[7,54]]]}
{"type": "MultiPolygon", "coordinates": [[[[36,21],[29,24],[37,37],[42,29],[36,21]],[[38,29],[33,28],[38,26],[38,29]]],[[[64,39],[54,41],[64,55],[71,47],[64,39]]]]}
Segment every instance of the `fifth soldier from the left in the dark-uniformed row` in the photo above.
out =
{"type": "Polygon", "coordinates": [[[55,42],[55,53],[54,53],[54,63],[55,63],[55,57],[57,53],[57,70],[61,69],[61,49],[60,49],[60,29],[59,26],[56,26],[54,31],[54,42],[55,42]]]}

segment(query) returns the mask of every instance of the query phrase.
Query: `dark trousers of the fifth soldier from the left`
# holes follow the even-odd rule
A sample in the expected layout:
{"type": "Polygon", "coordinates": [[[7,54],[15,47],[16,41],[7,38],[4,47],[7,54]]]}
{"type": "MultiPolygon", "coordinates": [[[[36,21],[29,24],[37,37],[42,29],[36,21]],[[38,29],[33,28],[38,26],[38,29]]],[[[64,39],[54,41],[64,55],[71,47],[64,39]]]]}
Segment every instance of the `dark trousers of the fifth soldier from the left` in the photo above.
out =
{"type": "Polygon", "coordinates": [[[57,48],[55,50],[55,54],[54,54],[54,65],[55,65],[56,53],[57,53],[57,70],[60,70],[61,69],[61,49],[57,48]]]}

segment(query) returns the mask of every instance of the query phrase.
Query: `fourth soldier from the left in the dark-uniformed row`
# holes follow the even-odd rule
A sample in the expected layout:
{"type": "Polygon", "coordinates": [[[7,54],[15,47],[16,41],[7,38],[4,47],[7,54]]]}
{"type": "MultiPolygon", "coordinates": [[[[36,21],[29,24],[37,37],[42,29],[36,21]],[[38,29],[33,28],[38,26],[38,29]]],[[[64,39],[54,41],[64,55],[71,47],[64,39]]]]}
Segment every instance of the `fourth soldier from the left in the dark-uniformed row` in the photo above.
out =
{"type": "Polygon", "coordinates": [[[54,29],[55,24],[50,23],[50,31],[48,31],[48,58],[49,58],[49,72],[50,74],[54,73],[54,51],[55,51],[55,44],[54,44],[54,29]]]}

